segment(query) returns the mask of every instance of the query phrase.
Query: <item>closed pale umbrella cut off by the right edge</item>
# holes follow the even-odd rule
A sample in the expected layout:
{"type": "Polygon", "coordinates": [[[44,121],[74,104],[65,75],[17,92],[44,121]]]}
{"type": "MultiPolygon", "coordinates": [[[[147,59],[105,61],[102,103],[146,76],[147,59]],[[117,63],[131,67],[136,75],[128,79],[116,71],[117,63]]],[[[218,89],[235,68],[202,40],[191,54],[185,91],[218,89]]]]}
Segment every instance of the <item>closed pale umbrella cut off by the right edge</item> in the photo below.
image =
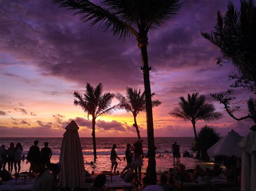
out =
{"type": "Polygon", "coordinates": [[[242,148],[241,191],[256,190],[256,126],[251,129],[239,143],[242,148]]]}

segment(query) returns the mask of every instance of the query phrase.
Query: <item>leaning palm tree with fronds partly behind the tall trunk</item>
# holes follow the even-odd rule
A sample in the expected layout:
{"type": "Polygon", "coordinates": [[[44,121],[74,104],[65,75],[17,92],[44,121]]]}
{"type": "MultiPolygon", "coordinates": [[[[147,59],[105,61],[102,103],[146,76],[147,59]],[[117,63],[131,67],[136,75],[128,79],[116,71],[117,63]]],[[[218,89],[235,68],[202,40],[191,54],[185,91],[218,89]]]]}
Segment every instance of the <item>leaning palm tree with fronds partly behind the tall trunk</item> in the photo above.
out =
{"type": "MultiPolygon", "coordinates": [[[[154,93],[151,94],[152,96],[154,93]]],[[[146,100],[145,100],[145,91],[141,94],[140,89],[132,89],[127,87],[126,88],[126,97],[120,93],[116,94],[116,98],[119,100],[120,104],[119,107],[121,109],[125,109],[127,112],[131,112],[134,119],[134,128],[136,128],[138,139],[140,140],[140,133],[138,124],[136,121],[136,117],[139,112],[146,111],[146,100]]],[[[159,100],[152,101],[152,107],[157,107],[160,105],[161,102],[159,100]]]]}

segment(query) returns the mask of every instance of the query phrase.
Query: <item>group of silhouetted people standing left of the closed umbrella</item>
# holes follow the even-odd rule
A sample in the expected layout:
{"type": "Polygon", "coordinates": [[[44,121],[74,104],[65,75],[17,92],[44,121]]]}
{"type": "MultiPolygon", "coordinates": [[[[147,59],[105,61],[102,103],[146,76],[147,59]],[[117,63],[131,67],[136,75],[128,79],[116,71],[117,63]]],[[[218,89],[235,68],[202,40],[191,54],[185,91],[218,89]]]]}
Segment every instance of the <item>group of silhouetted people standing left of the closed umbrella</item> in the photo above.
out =
{"type": "MultiPolygon", "coordinates": [[[[52,152],[51,148],[48,147],[49,143],[45,142],[44,147],[41,150],[37,146],[38,143],[38,140],[35,140],[34,145],[30,147],[26,157],[26,162],[30,162],[30,173],[35,164],[43,164],[46,167],[49,167],[51,164],[50,159],[52,152]]],[[[21,171],[22,160],[25,160],[25,155],[23,154],[21,143],[17,143],[15,146],[15,144],[11,142],[8,149],[5,148],[5,145],[0,147],[0,171],[5,170],[7,164],[9,174],[12,174],[13,168],[15,169],[15,174],[19,174],[21,171]]]]}

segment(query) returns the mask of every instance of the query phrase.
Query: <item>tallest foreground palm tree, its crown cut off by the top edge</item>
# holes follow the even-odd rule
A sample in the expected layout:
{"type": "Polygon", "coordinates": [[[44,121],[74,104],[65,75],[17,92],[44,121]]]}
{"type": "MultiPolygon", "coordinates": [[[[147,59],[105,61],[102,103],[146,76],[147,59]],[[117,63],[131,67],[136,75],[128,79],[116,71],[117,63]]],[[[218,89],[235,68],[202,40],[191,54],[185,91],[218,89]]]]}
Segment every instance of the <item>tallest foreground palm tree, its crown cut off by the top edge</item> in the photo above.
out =
{"type": "Polygon", "coordinates": [[[153,114],[150,89],[150,75],[147,59],[147,33],[173,18],[182,3],[180,0],[103,0],[100,6],[89,0],[53,0],[56,4],[69,10],[76,10],[74,15],[80,15],[83,22],[125,39],[130,35],[138,41],[142,54],[143,77],[146,98],[147,144],[149,165],[147,175],[156,183],[156,147],[154,146],[153,114]]]}

